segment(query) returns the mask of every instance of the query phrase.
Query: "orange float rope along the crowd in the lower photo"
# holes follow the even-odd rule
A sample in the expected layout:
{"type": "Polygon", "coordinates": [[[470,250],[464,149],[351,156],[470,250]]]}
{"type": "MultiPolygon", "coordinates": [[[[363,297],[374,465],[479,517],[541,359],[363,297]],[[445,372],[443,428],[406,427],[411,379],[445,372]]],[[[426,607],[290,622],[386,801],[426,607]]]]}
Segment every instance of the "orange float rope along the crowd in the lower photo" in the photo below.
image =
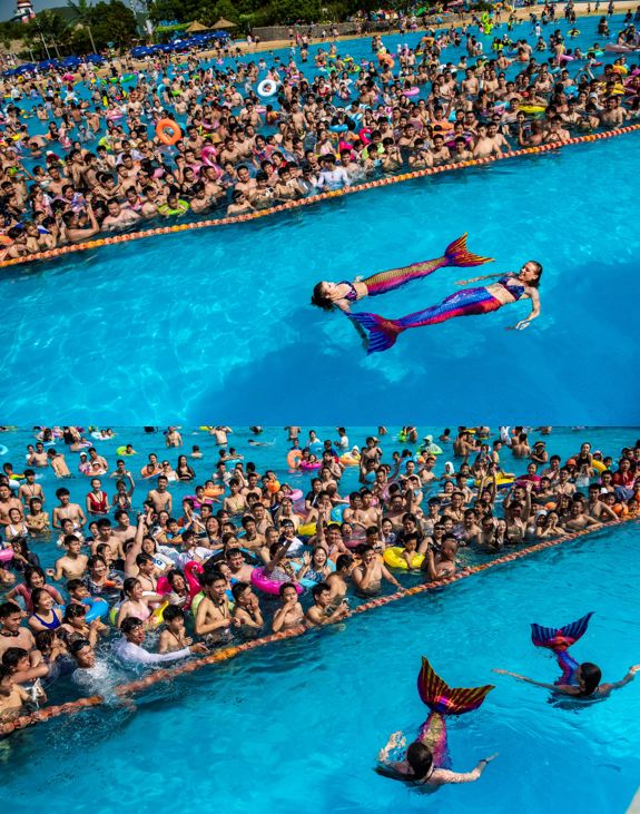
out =
{"type": "MultiPolygon", "coordinates": [[[[621,522],[631,522],[632,520],[636,520],[636,518],[629,518],[628,520],[622,520],[621,522]]],[[[364,602],[357,608],[354,608],[352,611],[352,616],[355,614],[364,614],[367,610],[373,610],[374,608],[380,608],[384,605],[390,605],[391,602],[395,602],[398,599],[404,599],[405,597],[437,590],[443,586],[451,585],[452,582],[457,582],[461,579],[466,579],[467,577],[480,573],[481,571],[486,571],[489,568],[503,566],[506,562],[513,562],[514,560],[523,559],[524,557],[538,553],[539,551],[544,551],[548,548],[555,548],[557,546],[561,546],[564,542],[577,540],[579,537],[587,537],[588,535],[592,535],[601,530],[602,528],[574,531],[570,535],[559,537],[555,540],[545,540],[544,542],[538,542],[534,546],[528,546],[526,548],[522,548],[519,551],[512,551],[511,553],[503,555],[502,557],[496,557],[495,559],[490,560],[489,562],[483,562],[479,566],[469,566],[467,568],[463,568],[461,571],[457,571],[451,577],[446,577],[445,579],[439,579],[436,582],[416,585],[413,588],[407,588],[403,591],[396,591],[395,594],[390,594],[384,597],[377,597],[376,599],[372,599],[368,602],[364,602]]],[[[203,667],[208,667],[209,665],[217,664],[218,661],[227,661],[228,659],[235,658],[240,653],[245,653],[246,650],[254,650],[257,647],[272,645],[275,641],[280,641],[283,639],[297,638],[298,636],[303,636],[305,632],[308,632],[308,630],[309,628],[301,625],[299,627],[292,628],[291,630],[285,630],[279,634],[272,634],[270,636],[263,636],[257,639],[252,639],[250,641],[245,641],[242,645],[224,647],[219,650],[216,650],[215,653],[211,653],[208,656],[204,656],[203,658],[190,659],[189,661],[179,665],[178,667],[173,667],[170,669],[158,669],[136,681],[121,684],[116,687],[116,694],[122,698],[126,698],[127,696],[134,695],[135,693],[140,693],[147,689],[147,687],[150,687],[154,684],[158,684],[159,681],[168,681],[173,678],[176,678],[177,676],[181,676],[187,673],[194,673],[195,670],[199,670],[203,667]]],[[[28,726],[49,720],[50,718],[58,718],[62,715],[70,715],[71,713],[77,713],[81,709],[87,709],[89,707],[100,706],[105,703],[106,699],[102,696],[92,695],[85,698],[78,698],[78,700],[67,702],[66,704],[43,707],[42,709],[30,713],[29,715],[21,715],[12,720],[0,723],[0,735],[9,735],[17,729],[23,729],[28,726]]]]}

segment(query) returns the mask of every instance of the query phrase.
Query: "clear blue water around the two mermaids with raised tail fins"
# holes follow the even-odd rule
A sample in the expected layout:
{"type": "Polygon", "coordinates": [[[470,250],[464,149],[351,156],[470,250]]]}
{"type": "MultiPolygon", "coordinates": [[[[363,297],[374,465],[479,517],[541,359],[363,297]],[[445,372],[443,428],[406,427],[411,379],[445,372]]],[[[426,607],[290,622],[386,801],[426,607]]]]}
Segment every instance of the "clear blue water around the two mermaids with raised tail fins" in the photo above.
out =
{"type": "Polygon", "coordinates": [[[552,680],[554,665],[530,641],[530,621],[560,625],[597,614],[579,659],[618,679],[636,658],[638,527],[492,569],[435,594],[349,619],[206,668],[137,699],[137,710],[98,708],[3,742],[4,794],[27,812],[47,795],[51,814],[101,810],[187,812],[392,812],[465,814],[623,811],[640,761],[638,681],[580,709],[506,677],[504,667],[552,680]],[[607,563],[605,580],[594,578],[607,563]],[[474,608],[475,612],[470,612],[474,608]],[[373,773],[391,732],[425,717],[415,677],[427,655],[451,685],[494,683],[483,707],[449,727],[455,767],[499,752],[480,782],[424,800],[373,773]],[[10,767],[10,773],[6,769],[10,767]]]}

